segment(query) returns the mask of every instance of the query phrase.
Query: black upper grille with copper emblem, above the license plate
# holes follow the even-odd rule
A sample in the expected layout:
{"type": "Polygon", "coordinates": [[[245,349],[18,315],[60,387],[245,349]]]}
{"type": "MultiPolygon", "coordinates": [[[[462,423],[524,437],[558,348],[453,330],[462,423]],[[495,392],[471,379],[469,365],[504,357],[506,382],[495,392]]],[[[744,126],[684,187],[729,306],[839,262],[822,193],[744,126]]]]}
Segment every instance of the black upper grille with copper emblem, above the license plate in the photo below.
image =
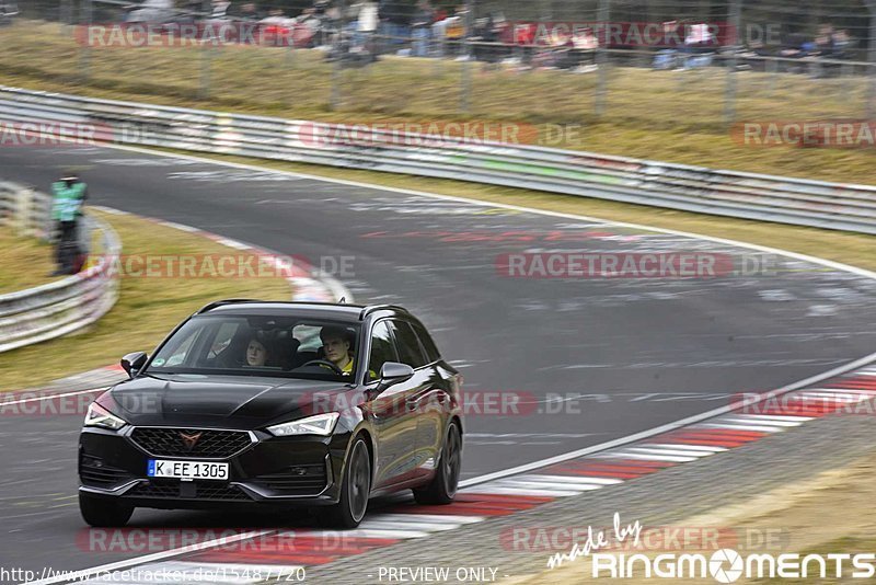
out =
{"type": "Polygon", "coordinates": [[[199,428],[135,428],[131,440],[151,455],[161,457],[231,457],[252,441],[243,431],[212,431],[199,428]],[[183,435],[194,437],[187,445],[183,435]]]}

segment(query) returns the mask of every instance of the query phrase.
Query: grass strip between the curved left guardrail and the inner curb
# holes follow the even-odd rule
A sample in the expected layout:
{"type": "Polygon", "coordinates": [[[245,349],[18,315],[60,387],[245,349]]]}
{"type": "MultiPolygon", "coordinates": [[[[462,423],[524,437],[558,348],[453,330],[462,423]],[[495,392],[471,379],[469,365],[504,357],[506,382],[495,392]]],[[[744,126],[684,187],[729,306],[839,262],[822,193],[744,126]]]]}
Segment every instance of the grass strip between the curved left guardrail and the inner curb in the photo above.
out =
{"type": "MultiPolygon", "coordinates": [[[[123,254],[241,254],[193,233],[159,226],[136,216],[92,211],[108,221],[123,242],[123,254]]],[[[3,263],[7,266],[7,255],[3,263]]],[[[291,289],[280,277],[122,278],[115,307],[96,324],[36,345],[0,354],[0,391],[35,387],[70,374],[118,363],[128,352],[151,352],[181,320],[209,301],[251,297],[288,300],[291,289]]]]}

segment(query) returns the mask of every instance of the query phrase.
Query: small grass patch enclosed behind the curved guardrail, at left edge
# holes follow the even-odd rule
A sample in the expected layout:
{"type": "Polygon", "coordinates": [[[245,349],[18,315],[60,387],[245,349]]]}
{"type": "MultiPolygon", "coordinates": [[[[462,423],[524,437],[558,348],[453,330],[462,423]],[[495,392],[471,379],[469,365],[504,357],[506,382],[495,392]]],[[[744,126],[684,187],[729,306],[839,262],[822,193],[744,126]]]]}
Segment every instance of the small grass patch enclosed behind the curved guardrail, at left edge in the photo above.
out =
{"type": "Polygon", "coordinates": [[[57,277],[49,276],[57,267],[54,248],[37,238],[19,237],[11,229],[0,227],[0,294],[24,290],[44,285],[57,277]]]}

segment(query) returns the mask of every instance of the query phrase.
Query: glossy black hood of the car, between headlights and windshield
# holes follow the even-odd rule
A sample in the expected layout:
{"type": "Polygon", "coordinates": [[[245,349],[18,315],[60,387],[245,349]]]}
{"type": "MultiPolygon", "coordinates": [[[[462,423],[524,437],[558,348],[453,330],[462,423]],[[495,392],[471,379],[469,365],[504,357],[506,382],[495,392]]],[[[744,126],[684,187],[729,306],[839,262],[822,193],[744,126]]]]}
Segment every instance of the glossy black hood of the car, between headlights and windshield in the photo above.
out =
{"type": "Polygon", "coordinates": [[[104,405],[134,425],[256,428],[318,414],[318,404],[331,403],[326,397],[349,390],[338,382],[288,378],[150,375],[117,385],[107,393],[115,404],[104,405]]]}

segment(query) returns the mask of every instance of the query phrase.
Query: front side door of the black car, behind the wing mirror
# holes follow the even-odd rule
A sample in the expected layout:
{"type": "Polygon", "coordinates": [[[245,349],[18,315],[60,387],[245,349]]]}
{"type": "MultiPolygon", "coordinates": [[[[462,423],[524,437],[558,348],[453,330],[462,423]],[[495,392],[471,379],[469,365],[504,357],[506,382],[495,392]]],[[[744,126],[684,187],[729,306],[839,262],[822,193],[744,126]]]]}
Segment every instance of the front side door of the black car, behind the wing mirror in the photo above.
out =
{"type": "Polygon", "coordinates": [[[417,440],[416,412],[406,408],[411,380],[396,382],[379,392],[380,369],[387,362],[400,362],[391,324],[380,320],[371,328],[368,356],[367,412],[377,434],[374,487],[385,487],[410,479],[412,464],[406,454],[417,440]]]}

